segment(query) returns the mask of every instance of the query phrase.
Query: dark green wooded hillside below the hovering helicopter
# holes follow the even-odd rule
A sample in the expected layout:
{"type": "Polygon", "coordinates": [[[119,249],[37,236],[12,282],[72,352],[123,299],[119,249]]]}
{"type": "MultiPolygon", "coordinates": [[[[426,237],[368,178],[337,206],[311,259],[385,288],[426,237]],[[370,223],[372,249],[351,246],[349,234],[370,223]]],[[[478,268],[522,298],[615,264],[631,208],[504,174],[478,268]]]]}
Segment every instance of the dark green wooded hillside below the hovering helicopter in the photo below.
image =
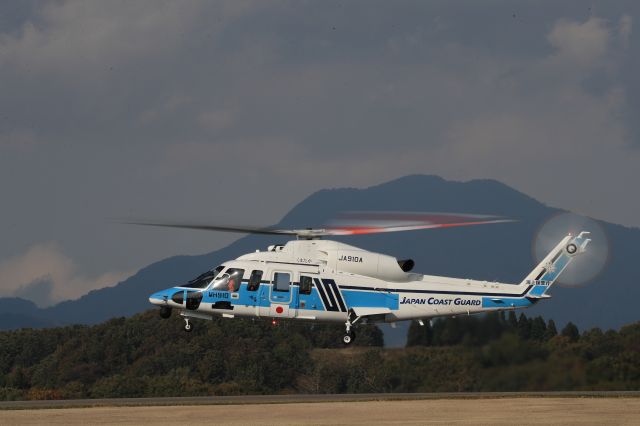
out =
{"type": "MultiPolygon", "coordinates": [[[[513,314],[513,313],[512,313],[513,314]]],[[[96,326],[0,333],[0,399],[266,393],[640,389],[640,323],[582,334],[520,315],[375,326],[215,319],[187,334],[155,310],[96,326]]]]}

